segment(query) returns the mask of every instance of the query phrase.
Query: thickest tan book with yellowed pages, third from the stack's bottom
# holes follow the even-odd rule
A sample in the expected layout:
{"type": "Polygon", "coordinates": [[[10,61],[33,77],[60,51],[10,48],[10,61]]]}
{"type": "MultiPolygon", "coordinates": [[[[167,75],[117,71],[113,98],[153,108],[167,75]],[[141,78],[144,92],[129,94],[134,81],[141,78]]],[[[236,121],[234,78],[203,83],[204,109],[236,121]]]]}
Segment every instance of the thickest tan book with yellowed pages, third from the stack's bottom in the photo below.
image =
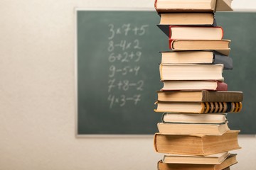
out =
{"type": "Polygon", "coordinates": [[[240,149],[238,133],[228,130],[223,135],[164,135],[154,134],[154,149],[164,154],[205,156],[240,149]]]}

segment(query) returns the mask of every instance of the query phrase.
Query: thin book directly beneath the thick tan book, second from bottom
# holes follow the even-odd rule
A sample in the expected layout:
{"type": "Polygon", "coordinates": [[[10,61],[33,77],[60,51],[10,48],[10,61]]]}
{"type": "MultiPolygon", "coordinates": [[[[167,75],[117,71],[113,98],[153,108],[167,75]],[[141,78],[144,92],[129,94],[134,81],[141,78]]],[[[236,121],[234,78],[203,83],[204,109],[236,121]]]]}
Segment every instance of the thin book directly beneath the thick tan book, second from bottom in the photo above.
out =
{"type": "Polygon", "coordinates": [[[210,154],[207,156],[194,156],[184,154],[166,154],[162,159],[164,164],[221,164],[230,156],[229,152],[210,154]]]}

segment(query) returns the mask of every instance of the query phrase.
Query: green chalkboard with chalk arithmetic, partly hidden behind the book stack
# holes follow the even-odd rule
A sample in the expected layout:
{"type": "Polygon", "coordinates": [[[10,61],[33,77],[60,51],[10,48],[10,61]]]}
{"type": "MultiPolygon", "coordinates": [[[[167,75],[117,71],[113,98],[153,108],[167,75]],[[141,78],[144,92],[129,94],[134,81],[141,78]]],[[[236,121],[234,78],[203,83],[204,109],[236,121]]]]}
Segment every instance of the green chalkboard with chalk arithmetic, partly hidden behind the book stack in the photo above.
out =
{"type": "MultiPolygon", "coordinates": [[[[78,135],[144,135],[157,132],[161,89],[159,51],[169,50],[155,11],[77,11],[78,135]]],[[[242,112],[229,127],[256,132],[256,13],[216,13],[232,40],[234,69],[224,71],[229,90],[243,91],[242,112]]]]}

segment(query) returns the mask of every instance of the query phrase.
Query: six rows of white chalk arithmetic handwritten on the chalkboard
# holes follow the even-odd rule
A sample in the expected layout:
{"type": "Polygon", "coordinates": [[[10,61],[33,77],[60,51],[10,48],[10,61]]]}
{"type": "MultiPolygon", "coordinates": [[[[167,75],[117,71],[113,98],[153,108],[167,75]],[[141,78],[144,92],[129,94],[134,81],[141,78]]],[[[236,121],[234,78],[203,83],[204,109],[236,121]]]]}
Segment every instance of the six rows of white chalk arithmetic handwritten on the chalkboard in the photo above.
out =
{"type": "Polygon", "coordinates": [[[146,35],[149,25],[109,23],[106,52],[110,67],[108,72],[107,101],[110,108],[123,107],[127,103],[137,105],[142,99],[144,79],[137,79],[141,70],[143,47],[139,38],[146,35]],[[129,39],[127,39],[129,37],[129,39]]]}

